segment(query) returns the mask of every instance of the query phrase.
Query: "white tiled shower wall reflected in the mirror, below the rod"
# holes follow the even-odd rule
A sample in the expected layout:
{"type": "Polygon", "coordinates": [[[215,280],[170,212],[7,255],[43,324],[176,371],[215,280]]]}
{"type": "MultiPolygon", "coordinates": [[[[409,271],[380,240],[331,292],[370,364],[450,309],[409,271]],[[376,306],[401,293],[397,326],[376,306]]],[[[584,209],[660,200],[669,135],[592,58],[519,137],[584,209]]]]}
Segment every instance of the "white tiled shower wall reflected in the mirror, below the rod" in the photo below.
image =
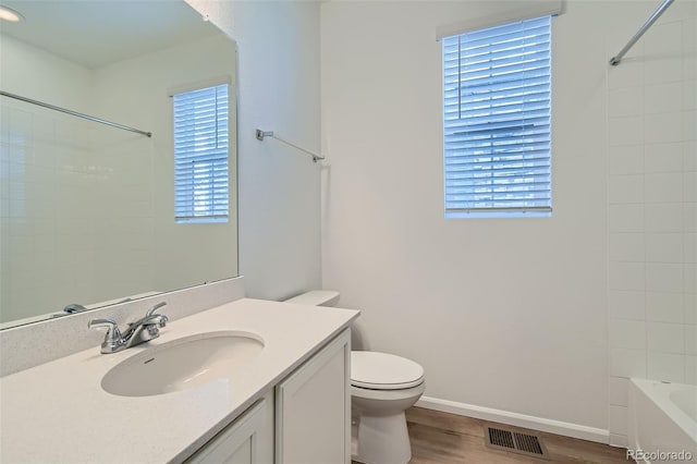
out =
{"type": "Polygon", "coordinates": [[[150,243],[132,231],[151,216],[151,195],[136,188],[148,185],[147,147],[108,142],[100,135],[108,127],[4,97],[1,111],[2,320],[126,295],[139,288],[134,279],[150,286],[150,243]],[[126,170],[135,157],[142,168],[126,170]],[[133,272],[110,271],[123,262],[133,272]]]}

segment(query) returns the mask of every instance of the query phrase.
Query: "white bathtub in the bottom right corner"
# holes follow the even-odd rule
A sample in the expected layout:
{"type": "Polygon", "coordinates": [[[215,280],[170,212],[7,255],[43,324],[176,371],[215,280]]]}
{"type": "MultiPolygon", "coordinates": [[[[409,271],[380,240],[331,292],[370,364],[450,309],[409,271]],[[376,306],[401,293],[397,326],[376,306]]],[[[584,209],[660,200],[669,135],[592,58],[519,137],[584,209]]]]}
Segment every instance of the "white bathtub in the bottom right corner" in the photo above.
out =
{"type": "Polygon", "coordinates": [[[697,462],[697,386],[632,379],[627,457],[697,462]]]}

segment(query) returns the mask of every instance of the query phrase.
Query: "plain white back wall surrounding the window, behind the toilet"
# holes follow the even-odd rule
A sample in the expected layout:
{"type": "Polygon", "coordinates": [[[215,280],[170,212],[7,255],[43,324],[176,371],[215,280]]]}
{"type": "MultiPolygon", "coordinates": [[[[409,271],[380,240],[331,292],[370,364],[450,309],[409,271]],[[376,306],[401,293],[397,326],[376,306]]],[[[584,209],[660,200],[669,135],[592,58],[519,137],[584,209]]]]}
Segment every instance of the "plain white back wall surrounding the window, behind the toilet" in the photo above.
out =
{"type": "Polygon", "coordinates": [[[443,219],[436,29],[512,4],[322,4],[323,284],[363,310],[364,347],[424,365],[427,396],[607,430],[604,35],[622,15],[571,1],[552,22],[552,218],[443,219]]]}

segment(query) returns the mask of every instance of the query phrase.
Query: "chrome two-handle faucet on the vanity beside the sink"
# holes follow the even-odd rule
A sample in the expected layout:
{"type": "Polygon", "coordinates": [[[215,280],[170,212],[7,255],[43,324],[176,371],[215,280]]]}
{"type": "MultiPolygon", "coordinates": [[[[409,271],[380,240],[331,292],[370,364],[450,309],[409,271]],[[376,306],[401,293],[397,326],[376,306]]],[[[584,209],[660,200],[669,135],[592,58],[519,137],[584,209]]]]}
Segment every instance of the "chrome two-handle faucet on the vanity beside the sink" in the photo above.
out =
{"type": "Polygon", "coordinates": [[[135,322],[130,322],[123,333],[113,319],[91,319],[87,327],[89,329],[107,328],[105,341],[101,343],[101,352],[115,353],[160,337],[160,328],[167,326],[169,318],[156,312],[164,305],[167,303],[161,302],[152,306],[144,317],[135,322]]]}

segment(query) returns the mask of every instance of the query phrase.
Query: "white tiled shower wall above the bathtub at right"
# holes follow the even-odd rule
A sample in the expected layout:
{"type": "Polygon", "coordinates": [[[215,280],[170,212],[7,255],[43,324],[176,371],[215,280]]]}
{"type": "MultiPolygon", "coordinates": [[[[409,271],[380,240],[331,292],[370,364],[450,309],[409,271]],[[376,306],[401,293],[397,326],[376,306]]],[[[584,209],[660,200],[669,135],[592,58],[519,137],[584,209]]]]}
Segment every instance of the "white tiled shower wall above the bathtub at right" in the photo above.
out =
{"type": "MultiPolygon", "coordinates": [[[[628,378],[697,383],[696,10],[675,2],[608,69],[609,429],[616,445],[627,444],[628,378]]],[[[628,37],[610,38],[608,57],[628,37]]]]}

